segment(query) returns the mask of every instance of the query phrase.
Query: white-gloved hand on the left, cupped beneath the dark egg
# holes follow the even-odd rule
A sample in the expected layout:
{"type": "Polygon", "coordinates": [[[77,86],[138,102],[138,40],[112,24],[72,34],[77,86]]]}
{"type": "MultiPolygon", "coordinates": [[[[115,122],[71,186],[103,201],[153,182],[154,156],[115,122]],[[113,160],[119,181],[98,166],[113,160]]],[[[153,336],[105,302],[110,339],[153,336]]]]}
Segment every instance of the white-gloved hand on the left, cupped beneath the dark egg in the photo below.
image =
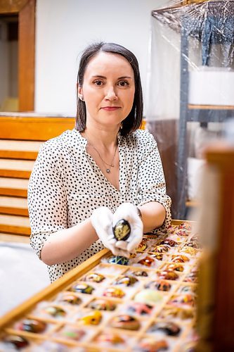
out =
{"type": "Polygon", "coordinates": [[[112,218],[113,214],[110,209],[107,206],[101,206],[100,208],[93,210],[91,224],[93,225],[96,234],[103,242],[103,245],[110,249],[114,256],[124,256],[129,258],[129,253],[127,251],[115,246],[117,240],[115,239],[112,229],[112,218]]]}

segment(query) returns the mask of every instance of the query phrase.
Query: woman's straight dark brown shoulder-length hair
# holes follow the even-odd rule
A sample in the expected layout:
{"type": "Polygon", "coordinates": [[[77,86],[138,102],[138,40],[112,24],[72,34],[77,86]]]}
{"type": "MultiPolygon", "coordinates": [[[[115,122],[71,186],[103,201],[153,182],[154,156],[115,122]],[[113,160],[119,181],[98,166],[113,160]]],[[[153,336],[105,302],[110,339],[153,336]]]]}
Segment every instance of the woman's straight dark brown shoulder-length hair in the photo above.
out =
{"type": "Polygon", "coordinates": [[[139,72],[139,66],[136,56],[119,44],[115,43],[94,43],[89,45],[83,52],[82,58],[79,63],[79,71],[77,75],[77,118],[76,118],[76,129],[82,132],[86,128],[86,106],[85,102],[81,101],[78,96],[78,87],[82,87],[84,81],[84,72],[89,64],[91,58],[96,56],[100,51],[111,54],[119,54],[124,56],[129,61],[131,68],[134,70],[135,80],[135,94],[134,103],[131,108],[129,115],[126,116],[122,122],[122,129],[120,133],[122,136],[126,136],[136,131],[143,120],[143,96],[141,88],[141,77],[139,72]]]}

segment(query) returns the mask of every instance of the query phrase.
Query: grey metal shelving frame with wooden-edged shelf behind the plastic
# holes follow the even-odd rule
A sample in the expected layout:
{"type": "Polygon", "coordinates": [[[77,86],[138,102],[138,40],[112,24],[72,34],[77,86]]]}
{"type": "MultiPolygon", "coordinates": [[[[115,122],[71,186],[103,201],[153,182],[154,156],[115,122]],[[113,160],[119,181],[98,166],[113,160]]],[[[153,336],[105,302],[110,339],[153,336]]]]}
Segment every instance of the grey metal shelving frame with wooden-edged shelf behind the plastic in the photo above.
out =
{"type": "MultiPolygon", "coordinates": [[[[222,18],[222,11],[217,11],[221,3],[227,1],[208,1],[206,6],[206,15],[204,21],[209,20],[209,16],[214,18],[222,18]]],[[[199,6],[199,4],[193,4],[193,10],[199,6]]],[[[234,15],[234,1],[229,1],[226,4],[227,16],[234,15]]],[[[188,7],[188,6],[187,6],[188,7]]],[[[192,5],[191,5],[192,7],[192,5]]],[[[221,106],[221,105],[193,105],[188,102],[189,92],[189,70],[188,70],[188,49],[189,49],[189,38],[197,37],[202,40],[202,33],[199,31],[204,30],[204,27],[194,25],[194,23],[200,20],[200,17],[196,18],[196,11],[186,11],[186,15],[181,16],[181,105],[180,105],[180,118],[179,118],[179,133],[178,133],[178,218],[183,219],[186,216],[186,197],[187,197],[187,150],[186,150],[186,138],[187,138],[187,122],[200,122],[201,125],[205,126],[208,122],[223,122],[224,120],[234,116],[234,106],[221,106]],[[194,30],[196,28],[196,32],[194,30]]],[[[220,25],[223,25],[222,21],[218,21],[220,25]]],[[[213,30],[213,28],[212,28],[213,30]]],[[[214,30],[220,32],[222,28],[215,27],[214,30]]],[[[223,38],[224,34],[223,34],[223,38]]],[[[221,35],[219,36],[219,44],[221,42],[221,35]]],[[[233,31],[234,41],[234,31],[233,31]]],[[[212,43],[214,44],[214,43],[212,43]]],[[[217,44],[217,43],[216,43],[217,44]]],[[[202,43],[203,45],[203,43],[202,43]]],[[[208,49],[203,49],[202,52],[208,49]]],[[[206,52],[207,54],[207,52],[206,52]]],[[[209,50],[206,58],[206,63],[209,61],[209,50]]]]}

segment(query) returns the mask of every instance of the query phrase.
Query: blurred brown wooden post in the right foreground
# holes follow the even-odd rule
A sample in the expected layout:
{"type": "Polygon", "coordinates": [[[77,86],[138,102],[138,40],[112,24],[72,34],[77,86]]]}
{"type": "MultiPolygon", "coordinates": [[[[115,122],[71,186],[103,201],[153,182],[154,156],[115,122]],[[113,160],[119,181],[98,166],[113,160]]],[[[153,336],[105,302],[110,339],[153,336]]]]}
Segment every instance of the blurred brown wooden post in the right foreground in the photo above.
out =
{"type": "Polygon", "coordinates": [[[206,158],[197,351],[234,351],[234,147],[210,148],[206,158]]]}

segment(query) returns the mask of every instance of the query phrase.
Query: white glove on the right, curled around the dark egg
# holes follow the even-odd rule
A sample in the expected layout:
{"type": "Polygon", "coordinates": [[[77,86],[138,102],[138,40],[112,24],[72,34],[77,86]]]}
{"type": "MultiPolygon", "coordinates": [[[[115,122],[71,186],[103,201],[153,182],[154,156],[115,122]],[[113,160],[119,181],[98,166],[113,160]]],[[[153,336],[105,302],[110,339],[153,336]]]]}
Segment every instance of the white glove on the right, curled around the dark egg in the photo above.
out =
{"type": "Polygon", "coordinates": [[[122,219],[129,222],[131,232],[126,241],[117,241],[115,247],[127,251],[128,253],[132,253],[142,241],[143,222],[138,215],[136,206],[131,203],[122,203],[121,206],[115,210],[112,217],[112,226],[115,227],[115,224],[122,219]]]}

